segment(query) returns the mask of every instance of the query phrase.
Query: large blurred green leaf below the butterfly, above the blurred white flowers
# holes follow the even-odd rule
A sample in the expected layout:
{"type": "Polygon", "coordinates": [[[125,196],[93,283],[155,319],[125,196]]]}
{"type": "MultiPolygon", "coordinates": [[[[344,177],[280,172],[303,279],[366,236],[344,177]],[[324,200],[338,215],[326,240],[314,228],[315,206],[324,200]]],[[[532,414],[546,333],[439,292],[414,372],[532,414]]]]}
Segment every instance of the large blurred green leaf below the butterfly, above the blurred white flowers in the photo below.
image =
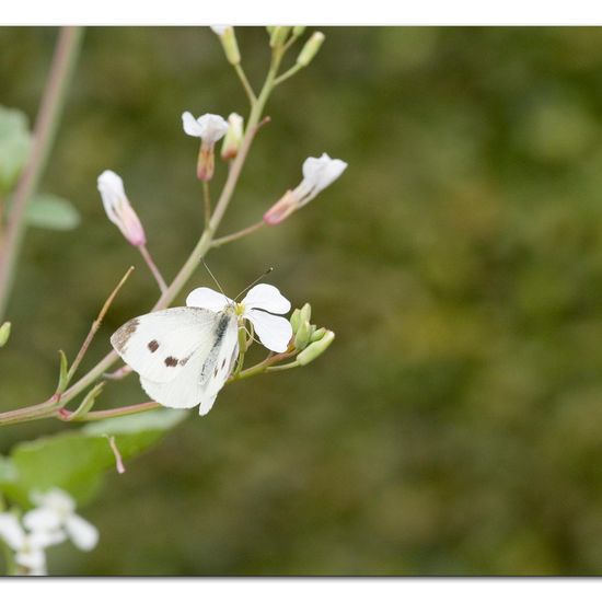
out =
{"type": "Polygon", "coordinates": [[[104,475],[115,471],[106,435],[115,436],[115,443],[127,460],[157,443],[186,415],[183,410],[157,409],[19,443],[11,453],[11,470],[0,468],[0,490],[23,507],[30,506],[32,491],[51,487],[65,489],[78,502],[85,502],[97,493],[104,475]]]}

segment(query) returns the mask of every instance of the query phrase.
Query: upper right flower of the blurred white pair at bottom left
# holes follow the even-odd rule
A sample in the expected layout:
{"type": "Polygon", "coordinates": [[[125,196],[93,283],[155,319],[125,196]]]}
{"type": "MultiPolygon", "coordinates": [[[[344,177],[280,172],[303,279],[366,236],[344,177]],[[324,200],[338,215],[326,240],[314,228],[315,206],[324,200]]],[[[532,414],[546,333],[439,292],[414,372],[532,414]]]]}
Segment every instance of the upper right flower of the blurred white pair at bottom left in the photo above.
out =
{"type": "Polygon", "coordinates": [[[34,532],[63,530],[80,549],[92,549],[99,542],[97,529],[76,514],[76,502],[61,489],[50,489],[46,494],[32,496],[38,506],[23,517],[23,524],[34,532]]]}

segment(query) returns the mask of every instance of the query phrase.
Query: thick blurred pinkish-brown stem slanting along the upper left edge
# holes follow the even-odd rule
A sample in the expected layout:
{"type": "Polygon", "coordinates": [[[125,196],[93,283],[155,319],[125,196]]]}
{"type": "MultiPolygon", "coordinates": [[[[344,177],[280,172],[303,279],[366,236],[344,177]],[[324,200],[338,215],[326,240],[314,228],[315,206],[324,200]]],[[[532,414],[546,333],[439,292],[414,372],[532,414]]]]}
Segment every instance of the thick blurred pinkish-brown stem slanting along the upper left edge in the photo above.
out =
{"type": "Polygon", "coordinates": [[[14,268],[25,233],[25,210],[44,173],[56,138],[67,88],[79,56],[82,34],[82,27],[63,27],[59,33],[35,123],[32,153],[14,193],[5,236],[0,250],[0,322],[7,310],[14,280],[14,268]]]}

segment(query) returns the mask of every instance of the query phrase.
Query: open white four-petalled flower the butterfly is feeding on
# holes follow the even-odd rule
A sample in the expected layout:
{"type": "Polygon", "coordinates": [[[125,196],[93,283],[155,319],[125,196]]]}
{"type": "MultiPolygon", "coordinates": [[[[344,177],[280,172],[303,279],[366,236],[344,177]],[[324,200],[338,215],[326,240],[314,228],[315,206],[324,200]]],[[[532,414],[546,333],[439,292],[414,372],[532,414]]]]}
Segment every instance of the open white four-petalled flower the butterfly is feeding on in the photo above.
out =
{"type": "MultiPolygon", "coordinates": [[[[223,311],[233,303],[225,294],[206,287],[195,289],[186,298],[189,308],[204,308],[213,312],[223,311]]],[[[276,352],[287,350],[292,327],[286,317],[273,314],[289,311],[290,302],[271,285],[256,285],[236,305],[236,313],[253,324],[262,344],[276,352]]]]}

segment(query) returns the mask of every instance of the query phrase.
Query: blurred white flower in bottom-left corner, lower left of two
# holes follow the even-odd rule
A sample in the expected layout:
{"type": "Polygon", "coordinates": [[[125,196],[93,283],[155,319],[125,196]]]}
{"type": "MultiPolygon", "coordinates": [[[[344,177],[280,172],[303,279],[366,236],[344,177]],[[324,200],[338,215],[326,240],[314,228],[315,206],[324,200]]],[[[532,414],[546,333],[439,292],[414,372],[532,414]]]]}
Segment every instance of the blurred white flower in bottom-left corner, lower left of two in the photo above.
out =
{"type": "Polygon", "coordinates": [[[0,513],[0,539],[15,553],[16,564],[27,575],[46,575],[46,547],[65,541],[65,533],[57,530],[32,530],[27,533],[18,518],[10,512],[0,513]]]}

